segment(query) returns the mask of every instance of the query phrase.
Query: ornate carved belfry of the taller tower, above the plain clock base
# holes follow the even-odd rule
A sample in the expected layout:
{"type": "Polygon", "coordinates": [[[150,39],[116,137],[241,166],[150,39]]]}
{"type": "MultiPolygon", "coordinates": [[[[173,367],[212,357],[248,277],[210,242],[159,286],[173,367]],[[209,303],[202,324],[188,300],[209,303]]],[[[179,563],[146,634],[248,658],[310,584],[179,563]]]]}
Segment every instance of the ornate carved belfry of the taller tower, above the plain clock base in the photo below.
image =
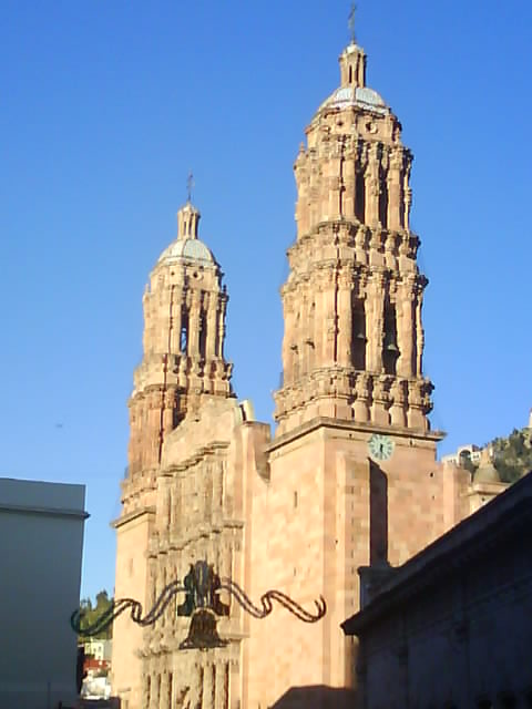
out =
{"type": "Polygon", "coordinates": [[[427,431],[428,281],[409,224],[412,154],[366,85],[364,50],[351,43],[339,62],[340,86],[319,106],[295,163],[277,435],[316,417],[427,431]]]}

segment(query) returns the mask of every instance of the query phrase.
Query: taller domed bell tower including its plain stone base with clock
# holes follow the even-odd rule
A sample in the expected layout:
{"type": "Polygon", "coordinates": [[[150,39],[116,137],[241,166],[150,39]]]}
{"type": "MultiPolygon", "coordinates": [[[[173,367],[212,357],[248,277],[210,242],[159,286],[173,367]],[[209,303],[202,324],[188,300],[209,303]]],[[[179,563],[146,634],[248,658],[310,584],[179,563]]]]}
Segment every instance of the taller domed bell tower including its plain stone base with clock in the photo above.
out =
{"type": "Polygon", "coordinates": [[[428,420],[412,154],[366,83],[364,50],[351,42],[339,62],[340,85],[294,166],[283,383],[268,483],[254,501],[253,554],[263,562],[252,575],[254,597],[274,587],[311,604],[320,594],[328,610],[319,628],[280,614],[267,629],[252,624],[249,707],[319,686],[346,689],[335,706],[352,706],[357,649],[340,623],[359,607],[358,569],[387,573],[458,514],[453,473],[436,460],[443,434],[428,420]]]}

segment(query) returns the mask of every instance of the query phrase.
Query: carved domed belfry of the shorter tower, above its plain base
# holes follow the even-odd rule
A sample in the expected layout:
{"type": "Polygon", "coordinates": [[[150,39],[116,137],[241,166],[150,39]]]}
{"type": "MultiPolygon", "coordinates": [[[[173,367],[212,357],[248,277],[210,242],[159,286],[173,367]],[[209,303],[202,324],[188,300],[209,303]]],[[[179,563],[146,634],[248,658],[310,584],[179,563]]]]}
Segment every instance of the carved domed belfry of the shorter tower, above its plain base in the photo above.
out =
{"type": "Polygon", "coordinates": [[[224,358],[228,296],[219,265],[198,238],[200,218],[190,201],[178,210],[177,238],[161,254],[144,291],[144,356],[129,402],[125,493],[131,485],[145,487],[165,436],[203,398],[232,395],[232,364],[224,358]]]}

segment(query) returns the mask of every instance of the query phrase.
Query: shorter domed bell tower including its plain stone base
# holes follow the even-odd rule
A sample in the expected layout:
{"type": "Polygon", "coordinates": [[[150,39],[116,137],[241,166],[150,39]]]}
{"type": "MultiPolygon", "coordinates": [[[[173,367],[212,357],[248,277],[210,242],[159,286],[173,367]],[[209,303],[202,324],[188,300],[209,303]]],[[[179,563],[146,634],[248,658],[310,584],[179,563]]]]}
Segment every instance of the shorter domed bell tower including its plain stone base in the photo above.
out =
{"type": "MultiPolygon", "coordinates": [[[[144,607],[163,444],[203,402],[233,395],[232,364],[224,358],[228,296],[218,264],[198,239],[200,216],[190,201],[178,210],[177,238],[161,254],[143,297],[144,354],[129,401],[129,469],[114,527],[115,596],[144,607]]],[[[141,628],[121,616],[113,645],[113,687],[132,707],[141,706],[141,628]]]]}

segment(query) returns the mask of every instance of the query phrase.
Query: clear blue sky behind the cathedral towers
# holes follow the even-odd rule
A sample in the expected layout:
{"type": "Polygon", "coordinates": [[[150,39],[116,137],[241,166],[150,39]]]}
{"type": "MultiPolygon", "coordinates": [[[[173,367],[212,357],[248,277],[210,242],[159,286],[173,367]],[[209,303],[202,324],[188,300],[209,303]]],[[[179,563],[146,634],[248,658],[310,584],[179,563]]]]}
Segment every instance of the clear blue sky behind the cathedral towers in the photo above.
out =
{"type": "MultiPolygon", "coordinates": [[[[368,83],[416,155],[440,453],[522,427],[530,326],[532,6],[359,0],[368,83]]],[[[234,386],[270,421],[291,165],[338,85],[349,3],[0,4],[0,474],[88,486],[83,594],[113,588],[141,297],[195,174],[226,274],[234,386]]]]}

